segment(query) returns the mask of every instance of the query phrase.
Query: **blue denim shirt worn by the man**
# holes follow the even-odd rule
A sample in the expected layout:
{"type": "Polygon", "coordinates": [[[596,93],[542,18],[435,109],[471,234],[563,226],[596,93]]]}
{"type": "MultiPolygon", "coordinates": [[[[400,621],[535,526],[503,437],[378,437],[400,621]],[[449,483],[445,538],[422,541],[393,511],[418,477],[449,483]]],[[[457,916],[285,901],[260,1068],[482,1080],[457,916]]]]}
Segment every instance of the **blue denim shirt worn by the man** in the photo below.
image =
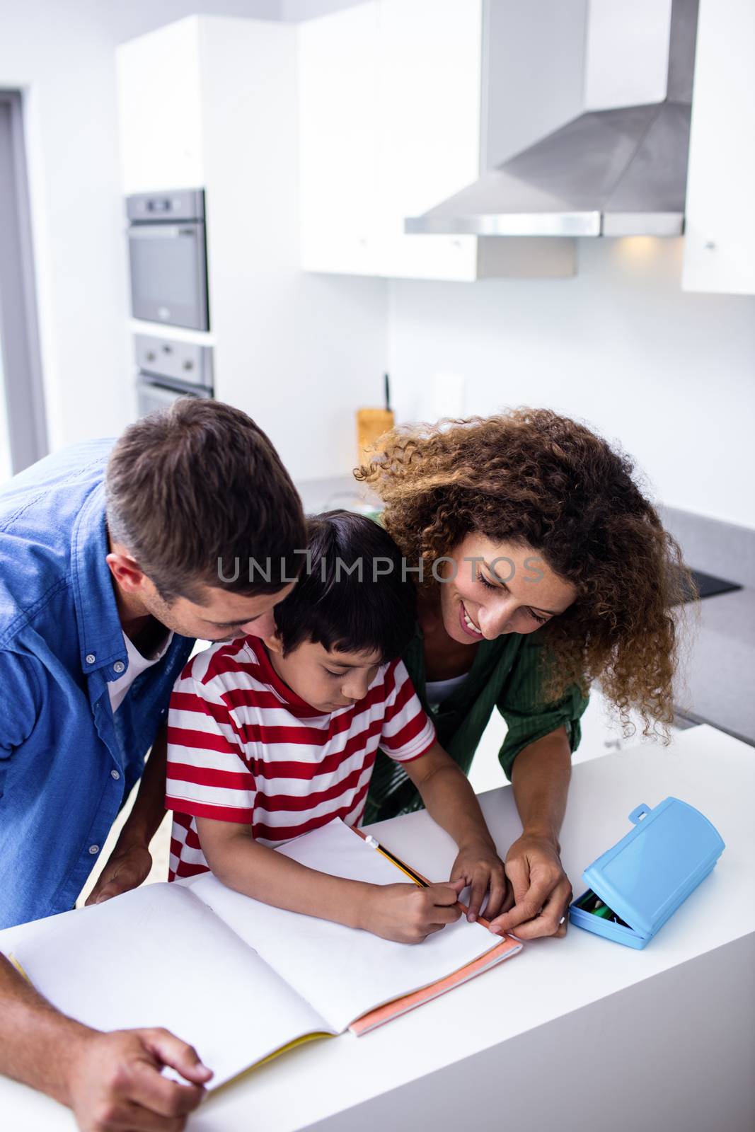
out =
{"type": "Polygon", "coordinates": [[[74,906],[194,644],[174,636],[113,717],[108,684],[128,657],[105,561],[112,444],[0,488],[0,927],[74,906]]]}

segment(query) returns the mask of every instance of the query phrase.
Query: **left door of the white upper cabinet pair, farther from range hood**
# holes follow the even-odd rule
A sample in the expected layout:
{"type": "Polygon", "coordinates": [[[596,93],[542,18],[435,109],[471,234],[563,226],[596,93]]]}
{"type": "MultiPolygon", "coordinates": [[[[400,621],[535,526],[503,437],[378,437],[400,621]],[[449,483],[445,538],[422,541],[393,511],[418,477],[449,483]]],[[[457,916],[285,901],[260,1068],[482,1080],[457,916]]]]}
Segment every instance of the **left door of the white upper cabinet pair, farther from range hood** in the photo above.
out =
{"type": "Polygon", "coordinates": [[[379,275],[378,3],[299,28],[301,266],[379,275]]]}

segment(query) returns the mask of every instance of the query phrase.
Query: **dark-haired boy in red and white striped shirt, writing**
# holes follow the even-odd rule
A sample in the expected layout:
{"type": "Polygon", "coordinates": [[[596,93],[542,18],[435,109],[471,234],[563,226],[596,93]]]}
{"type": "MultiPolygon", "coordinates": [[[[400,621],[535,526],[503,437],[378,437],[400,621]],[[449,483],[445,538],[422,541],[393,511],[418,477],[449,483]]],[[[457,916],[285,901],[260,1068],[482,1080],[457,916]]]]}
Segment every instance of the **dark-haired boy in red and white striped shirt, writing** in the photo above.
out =
{"type": "Polygon", "coordinates": [[[291,911],[415,943],[487,894],[504,866],[465,775],[443,751],[400,657],[415,590],[383,528],[349,512],[309,522],[307,567],[275,609],[276,633],[220,643],[189,661],[168,726],[171,880],[212,872],[291,911]],[[362,884],[307,868],[282,844],[334,817],[358,825],[378,747],[400,762],[458,856],[446,884],[362,884]]]}

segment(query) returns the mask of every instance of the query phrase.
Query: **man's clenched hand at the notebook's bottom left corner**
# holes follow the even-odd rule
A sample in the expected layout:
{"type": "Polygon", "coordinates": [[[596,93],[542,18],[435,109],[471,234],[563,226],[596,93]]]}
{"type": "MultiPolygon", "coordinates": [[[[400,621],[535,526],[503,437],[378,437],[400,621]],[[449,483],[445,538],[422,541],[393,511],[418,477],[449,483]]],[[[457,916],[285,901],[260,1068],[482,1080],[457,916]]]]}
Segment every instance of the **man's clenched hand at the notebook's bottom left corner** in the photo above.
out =
{"type": "Polygon", "coordinates": [[[81,1028],[66,1052],[65,1094],[81,1132],[180,1132],[212,1071],[168,1030],[100,1034],[81,1028]],[[190,1084],[161,1075],[177,1069],[190,1084]]]}

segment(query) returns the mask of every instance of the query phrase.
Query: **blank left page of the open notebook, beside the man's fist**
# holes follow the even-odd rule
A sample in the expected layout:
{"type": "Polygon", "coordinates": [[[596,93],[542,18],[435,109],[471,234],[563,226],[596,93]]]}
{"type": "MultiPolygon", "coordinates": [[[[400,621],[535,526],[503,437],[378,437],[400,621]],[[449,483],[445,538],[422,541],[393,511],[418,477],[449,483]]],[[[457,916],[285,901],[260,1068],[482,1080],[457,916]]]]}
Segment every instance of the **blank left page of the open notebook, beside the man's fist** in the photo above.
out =
{"type": "MultiPolygon", "coordinates": [[[[243,899],[243,898],[242,898],[243,899]]],[[[59,1010],[101,1030],[162,1026],[223,1084],[327,1023],[179,884],[40,924],[15,958],[59,1010]]]]}

